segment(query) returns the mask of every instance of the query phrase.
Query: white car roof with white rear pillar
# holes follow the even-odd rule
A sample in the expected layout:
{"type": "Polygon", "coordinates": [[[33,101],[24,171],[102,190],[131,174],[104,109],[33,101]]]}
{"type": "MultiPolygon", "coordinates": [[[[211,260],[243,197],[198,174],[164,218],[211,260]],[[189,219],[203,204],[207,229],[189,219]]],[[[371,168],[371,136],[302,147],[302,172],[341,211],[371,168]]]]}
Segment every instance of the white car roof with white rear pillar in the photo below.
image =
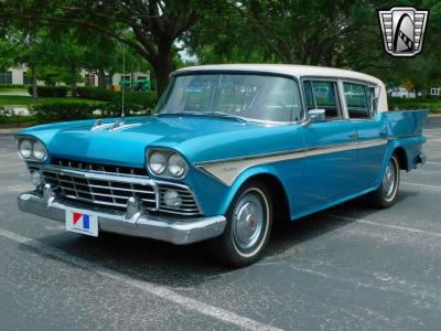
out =
{"type": "Polygon", "coordinates": [[[175,73],[191,73],[203,71],[237,71],[237,72],[261,72],[261,73],[277,73],[291,75],[294,77],[336,77],[355,81],[364,81],[373,85],[379,86],[378,95],[378,111],[387,111],[387,94],[383,82],[374,76],[353,72],[348,70],[312,66],[312,65],[293,65],[293,64],[212,64],[212,65],[197,65],[189,66],[178,70],[175,73]]]}

